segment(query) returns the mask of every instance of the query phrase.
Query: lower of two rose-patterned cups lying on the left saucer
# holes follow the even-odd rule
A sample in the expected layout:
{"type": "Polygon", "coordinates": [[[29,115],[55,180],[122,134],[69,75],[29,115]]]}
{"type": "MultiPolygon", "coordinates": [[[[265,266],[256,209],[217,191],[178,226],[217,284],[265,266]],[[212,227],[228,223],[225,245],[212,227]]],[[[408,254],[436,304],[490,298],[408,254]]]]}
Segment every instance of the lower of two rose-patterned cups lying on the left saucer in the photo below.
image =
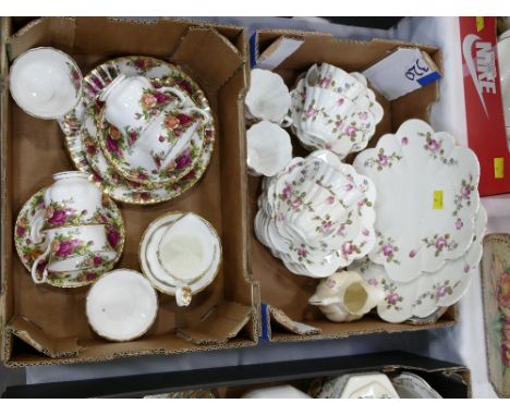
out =
{"type": "Polygon", "coordinates": [[[32,278],[36,283],[45,283],[49,272],[64,272],[99,267],[117,257],[110,246],[105,224],[63,227],[47,230],[45,233],[45,252],[32,266],[32,278]],[[94,256],[99,264],[88,264],[94,256]],[[45,262],[42,273],[39,264],[45,262]]]}

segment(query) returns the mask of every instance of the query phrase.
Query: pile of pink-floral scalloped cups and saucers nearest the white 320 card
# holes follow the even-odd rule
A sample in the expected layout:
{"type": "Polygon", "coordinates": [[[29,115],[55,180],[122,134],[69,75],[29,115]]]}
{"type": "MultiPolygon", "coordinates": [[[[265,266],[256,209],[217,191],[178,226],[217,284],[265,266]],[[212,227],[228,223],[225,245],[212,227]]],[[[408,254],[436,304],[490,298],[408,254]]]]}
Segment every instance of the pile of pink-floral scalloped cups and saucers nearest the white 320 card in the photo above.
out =
{"type": "Polygon", "coordinates": [[[366,78],[327,63],[314,64],[291,96],[292,127],[301,144],[340,159],[364,149],[382,119],[366,78]]]}

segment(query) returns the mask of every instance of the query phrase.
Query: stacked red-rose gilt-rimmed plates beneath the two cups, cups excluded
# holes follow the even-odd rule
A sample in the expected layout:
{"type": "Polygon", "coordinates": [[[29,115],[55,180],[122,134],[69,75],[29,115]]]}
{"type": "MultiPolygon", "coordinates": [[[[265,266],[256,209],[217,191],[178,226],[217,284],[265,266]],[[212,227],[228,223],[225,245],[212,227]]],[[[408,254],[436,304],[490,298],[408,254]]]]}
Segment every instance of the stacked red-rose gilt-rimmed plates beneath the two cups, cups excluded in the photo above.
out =
{"type": "Polygon", "coordinates": [[[84,77],[84,95],[80,105],[60,119],[59,124],[76,168],[89,173],[90,179],[113,199],[127,204],[156,204],[191,188],[207,169],[215,142],[212,111],[203,90],[179,68],[146,57],[118,58],[95,68],[84,77]],[[162,178],[160,172],[151,171],[135,175],[132,173],[134,170],[138,172],[139,167],[132,163],[127,155],[124,159],[112,155],[114,149],[108,146],[108,137],[114,136],[119,146],[122,140],[117,137],[118,131],[105,122],[99,96],[119,74],[145,76],[159,93],[167,87],[177,88],[185,97],[186,107],[197,107],[209,115],[192,137],[189,154],[182,154],[182,158],[175,160],[177,175],[162,178]]]}

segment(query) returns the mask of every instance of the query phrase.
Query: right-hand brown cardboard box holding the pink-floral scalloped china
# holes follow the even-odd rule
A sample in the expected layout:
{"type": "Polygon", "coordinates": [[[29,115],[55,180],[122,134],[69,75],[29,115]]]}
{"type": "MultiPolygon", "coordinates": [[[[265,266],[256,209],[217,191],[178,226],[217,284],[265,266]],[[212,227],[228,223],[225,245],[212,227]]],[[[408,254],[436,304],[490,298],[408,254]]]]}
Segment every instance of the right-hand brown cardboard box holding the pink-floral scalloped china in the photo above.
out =
{"type": "MultiPolygon", "coordinates": [[[[398,47],[420,47],[427,52],[437,68],[441,68],[441,53],[438,49],[426,45],[408,44],[397,40],[373,39],[369,41],[337,39],[329,34],[259,30],[253,44],[254,58],[266,62],[280,62],[274,71],[280,74],[289,88],[293,87],[296,77],[317,62],[328,62],[345,71],[362,72],[367,66],[386,57],[398,47]],[[293,39],[293,40],[288,40],[293,39]],[[302,42],[295,48],[295,40],[302,42]],[[284,59],[275,58],[280,53],[294,50],[284,59]],[[272,57],[271,57],[272,56],[272,57]]],[[[378,138],[396,132],[399,125],[412,118],[428,121],[430,105],[439,98],[437,83],[429,84],[393,101],[387,101],[377,95],[377,100],[385,110],[381,122],[377,125],[375,136],[369,143],[374,147],[378,138]]],[[[307,155],[293,138],[294,156],[307,155]]],[[[348,158],[351,162],[353,157],[348,158]]],[[[377,316],[365,316],[360,321],[336,323],[327,320],[320,310],[308,305],[308,298],[314,294],[317,281],[311,278],[295,276],[289,272],[283,264],[275,258],[269,249],[260,244],[253,230],[253,220],[257,210],[257,197],[260,193],[260,179],[250,176],[250,245],[251,269],[254,278],[260,283],[260,302],[263,304],[262,328],[263,337],[271,341],[304,341],[318,339],[345,338],[354,334],[372,332],[400,332],[430,328],[450,327],[457,321],[457,309],[450,307],[436,322],[422,325],[392,325],[380,320],[377,316]],[[305,323],[302,326],[301,323],[305,323]]]]}

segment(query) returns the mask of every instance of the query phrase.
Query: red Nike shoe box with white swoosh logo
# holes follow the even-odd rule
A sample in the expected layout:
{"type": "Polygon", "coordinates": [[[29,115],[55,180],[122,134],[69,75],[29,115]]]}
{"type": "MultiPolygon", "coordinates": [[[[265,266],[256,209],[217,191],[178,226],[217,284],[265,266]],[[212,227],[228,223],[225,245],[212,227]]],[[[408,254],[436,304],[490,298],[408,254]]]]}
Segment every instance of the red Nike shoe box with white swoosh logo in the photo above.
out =
{"type": "Polygon", "coordinates": [[[479,160],[479,194],[510,192],[510,151],[499,83],[496,17],[459,17],[469,147],[479,160]]]}

